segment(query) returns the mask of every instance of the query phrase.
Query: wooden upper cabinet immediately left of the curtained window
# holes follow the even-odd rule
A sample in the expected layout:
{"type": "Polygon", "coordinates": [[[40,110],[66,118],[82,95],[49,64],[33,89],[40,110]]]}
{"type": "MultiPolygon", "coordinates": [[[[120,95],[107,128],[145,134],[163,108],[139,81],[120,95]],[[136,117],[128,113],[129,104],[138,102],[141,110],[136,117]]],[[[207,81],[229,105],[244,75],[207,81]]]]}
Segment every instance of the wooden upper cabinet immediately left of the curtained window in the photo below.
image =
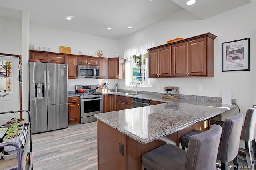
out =
{"type": "Polygon", "coordinates": [[[124,79],[124,58],[108,58],[108,79],[124,79]]]}

